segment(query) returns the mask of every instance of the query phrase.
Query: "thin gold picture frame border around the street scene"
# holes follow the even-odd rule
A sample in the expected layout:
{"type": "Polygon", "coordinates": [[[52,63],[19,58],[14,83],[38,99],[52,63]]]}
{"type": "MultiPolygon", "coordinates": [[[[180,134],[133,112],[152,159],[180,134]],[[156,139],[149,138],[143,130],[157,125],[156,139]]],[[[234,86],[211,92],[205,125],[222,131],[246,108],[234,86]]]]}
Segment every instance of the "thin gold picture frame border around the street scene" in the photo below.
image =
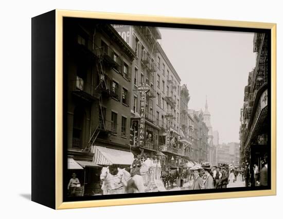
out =
{"type": "MultiPolygon", "coordinates": [[[[242,21],[191,19],[186,17],[149,16],[137,14],[104,13],[90,11],[55,10],[55,209],[184,202],[189,200],[220,199],[276,195],[276,24],[242,21]],[[259,28],[271,31],[271,189],[256,191],[201,193],[103,200],[63,202],[63,17],[103,19],[134,22],[158,22],[219,27],[259,28]]],[[[36,147],[36,145],[34,145],[36,147]]],[[[34,153],[36,155],[36,153],[34,153]]],[[[36,161],[35,161],[36,162],[36,161]]],[[[36,173],[34,173],[36,175],[36,173]]],[[[36,182],[34,182],[35,184],[36,182]]],[[[36,193],[36,192],[34,192],[36,193]]],[[[32,196],[34,196],[32,194],[32,196]]],[[[32,198],[40,202],[37,198],[32,198]]]]}

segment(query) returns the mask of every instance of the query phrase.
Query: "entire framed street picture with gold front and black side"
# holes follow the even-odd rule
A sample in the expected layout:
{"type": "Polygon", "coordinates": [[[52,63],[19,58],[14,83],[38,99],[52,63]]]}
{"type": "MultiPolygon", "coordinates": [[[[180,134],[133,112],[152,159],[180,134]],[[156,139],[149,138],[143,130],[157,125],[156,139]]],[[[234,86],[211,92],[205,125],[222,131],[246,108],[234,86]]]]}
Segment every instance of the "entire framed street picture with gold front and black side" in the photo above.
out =
{"type": "Polygon", "coordinates": [[[276,194],[276,24],[32,18],[32,200],[55,209],[276,194]]]}

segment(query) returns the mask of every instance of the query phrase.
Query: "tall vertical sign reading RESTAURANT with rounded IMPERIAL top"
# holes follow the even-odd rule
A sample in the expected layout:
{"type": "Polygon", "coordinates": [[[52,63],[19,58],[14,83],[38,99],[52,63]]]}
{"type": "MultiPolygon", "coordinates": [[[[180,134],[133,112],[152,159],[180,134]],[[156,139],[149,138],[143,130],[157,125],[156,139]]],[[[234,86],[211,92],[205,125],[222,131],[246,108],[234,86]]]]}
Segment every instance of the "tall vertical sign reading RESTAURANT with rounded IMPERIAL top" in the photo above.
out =
{"type": "Polygon", "coordinates": [[[146,83],[141,83],[137,87],[137,90],[140,92],[140,122],[138,129],[138,145],[143,147],[145,145],[145,118],[146,118],[146,93],[149,91],[150,86],[146,83]]]}

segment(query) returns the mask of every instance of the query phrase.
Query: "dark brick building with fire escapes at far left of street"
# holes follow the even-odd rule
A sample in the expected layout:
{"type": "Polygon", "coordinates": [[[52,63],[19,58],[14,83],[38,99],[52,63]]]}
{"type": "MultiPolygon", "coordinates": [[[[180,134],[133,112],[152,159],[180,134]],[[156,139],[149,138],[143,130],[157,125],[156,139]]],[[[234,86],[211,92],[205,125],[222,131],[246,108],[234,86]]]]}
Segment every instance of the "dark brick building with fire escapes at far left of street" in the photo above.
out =
{"type": "Polygon", "coordinates": [[[130,153],[135,52],[111,25],[66,19],[63,31],[68,157],[83,167],[76,172],[84,194],[99,193],[101,167],[93,163],[93,146],[130,153]]]}

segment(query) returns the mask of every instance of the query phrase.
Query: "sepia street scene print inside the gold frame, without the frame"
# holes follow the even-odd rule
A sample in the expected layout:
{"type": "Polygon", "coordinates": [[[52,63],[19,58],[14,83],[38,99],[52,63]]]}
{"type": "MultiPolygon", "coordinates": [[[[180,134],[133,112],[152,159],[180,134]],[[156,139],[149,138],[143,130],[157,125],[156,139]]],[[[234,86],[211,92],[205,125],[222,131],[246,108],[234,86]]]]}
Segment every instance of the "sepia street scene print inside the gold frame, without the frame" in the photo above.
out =
{"type": "Polygon", "coordinates": [[[66,197],[269,188],[269,44],[65,18],[66,197]]]}

